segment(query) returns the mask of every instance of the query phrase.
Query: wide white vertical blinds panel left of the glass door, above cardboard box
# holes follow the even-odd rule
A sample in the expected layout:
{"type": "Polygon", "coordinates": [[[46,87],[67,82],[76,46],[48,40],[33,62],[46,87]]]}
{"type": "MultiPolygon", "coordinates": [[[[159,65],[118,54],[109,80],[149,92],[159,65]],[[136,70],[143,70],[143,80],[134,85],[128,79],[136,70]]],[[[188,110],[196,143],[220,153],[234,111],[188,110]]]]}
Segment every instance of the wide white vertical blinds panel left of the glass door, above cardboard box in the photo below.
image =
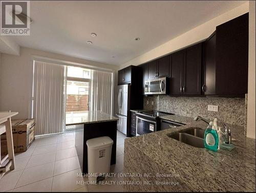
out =
{"type": "Polygon", "coordinates": [[[34,61],[33,117],[36,134],[60,133],[64,126],[65,66],[34,61]]]}

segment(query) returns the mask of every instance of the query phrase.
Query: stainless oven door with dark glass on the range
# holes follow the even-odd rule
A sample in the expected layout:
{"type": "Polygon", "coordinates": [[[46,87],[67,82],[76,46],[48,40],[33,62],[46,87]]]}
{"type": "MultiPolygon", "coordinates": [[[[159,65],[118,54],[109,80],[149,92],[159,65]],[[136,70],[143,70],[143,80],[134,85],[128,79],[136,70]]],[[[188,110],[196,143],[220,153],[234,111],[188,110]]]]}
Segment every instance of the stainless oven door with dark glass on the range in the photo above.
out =
{"type": "Polygon", "coordinates": [[[157,131],[157,122],[155,120],[145,119],[137,116],[136,120],[137,136],[157,131]]]}

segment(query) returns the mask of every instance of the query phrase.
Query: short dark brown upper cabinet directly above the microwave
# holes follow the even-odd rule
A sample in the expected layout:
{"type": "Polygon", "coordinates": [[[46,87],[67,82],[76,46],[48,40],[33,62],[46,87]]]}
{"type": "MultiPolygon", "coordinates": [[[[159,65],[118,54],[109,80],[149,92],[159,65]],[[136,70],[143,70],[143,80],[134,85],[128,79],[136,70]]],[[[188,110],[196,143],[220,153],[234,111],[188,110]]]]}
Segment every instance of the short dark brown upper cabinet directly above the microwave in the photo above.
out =
{"type": "Polygon", "coordinates": [[[148,62],[148,79],[169,76],[169,55],[148,62]]]}

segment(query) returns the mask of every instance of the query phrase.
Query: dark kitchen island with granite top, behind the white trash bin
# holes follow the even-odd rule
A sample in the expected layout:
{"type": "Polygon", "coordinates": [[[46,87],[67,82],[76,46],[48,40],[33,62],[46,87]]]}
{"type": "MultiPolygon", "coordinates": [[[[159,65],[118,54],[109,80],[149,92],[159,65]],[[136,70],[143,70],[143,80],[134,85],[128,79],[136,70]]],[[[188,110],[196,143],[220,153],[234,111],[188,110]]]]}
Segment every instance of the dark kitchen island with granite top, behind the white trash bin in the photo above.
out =
{"type": "Polygon", "coordinates": [[[88,151],[87,140],[108,136],[114,143],[112,145],[111,165],[116,163],[116,132],[118,118],[103,113],[101,111],[85,111],[77,120],[67,122],[66,125],[79,125],[83,127],[76,128],[75,131],[75,147],[82,173],[88,173],[88,151]]]}

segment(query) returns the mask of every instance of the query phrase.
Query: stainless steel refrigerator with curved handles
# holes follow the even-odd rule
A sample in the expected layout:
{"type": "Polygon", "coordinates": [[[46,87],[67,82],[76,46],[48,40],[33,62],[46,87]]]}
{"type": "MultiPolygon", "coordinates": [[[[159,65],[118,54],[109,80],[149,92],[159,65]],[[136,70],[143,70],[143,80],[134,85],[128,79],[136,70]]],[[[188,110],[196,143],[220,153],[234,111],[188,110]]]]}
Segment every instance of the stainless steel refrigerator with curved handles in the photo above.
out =
{"type": "Polygon", "coordinates": [[[130,84],[118,85],[117,130],[127,135],[127,115],[129,107],[130,84]]]}

